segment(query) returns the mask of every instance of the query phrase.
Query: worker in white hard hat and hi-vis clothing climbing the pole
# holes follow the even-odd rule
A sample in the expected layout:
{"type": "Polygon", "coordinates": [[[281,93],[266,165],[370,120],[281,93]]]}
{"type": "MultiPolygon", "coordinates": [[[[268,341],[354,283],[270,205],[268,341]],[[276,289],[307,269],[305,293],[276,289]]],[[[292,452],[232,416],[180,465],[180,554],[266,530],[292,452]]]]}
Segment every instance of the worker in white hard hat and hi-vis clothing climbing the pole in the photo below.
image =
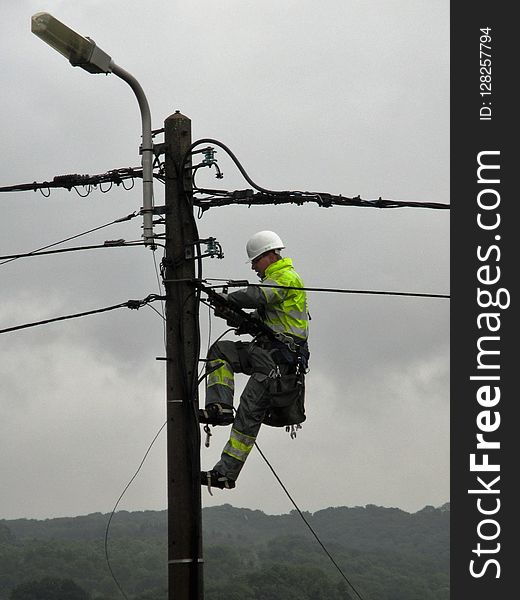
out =
{"type": "MultiPolygon", "coordinates": [[[[234,488],[262,423],[294,426],[305,420],[304,374],[308,369],[309,312],[304,283],[273,231],[256,233],[246,245],[248,262],[261,285],[222,294],[226,303],[255,309],[267,326],[250,342],[219,341],[208,352],[206,402],[199,421],[232,425],[220,461],[201,473],[203,485],[234,488]],[[273,335],[274,334],[274,335],[273,335]],[[234,373],[250,375],[234,415],[234,373]]],[[[215,314],[219,316],[218,309],[215,314]]],[[[240,329],[238,329],[240,332],[240,329]]]]}

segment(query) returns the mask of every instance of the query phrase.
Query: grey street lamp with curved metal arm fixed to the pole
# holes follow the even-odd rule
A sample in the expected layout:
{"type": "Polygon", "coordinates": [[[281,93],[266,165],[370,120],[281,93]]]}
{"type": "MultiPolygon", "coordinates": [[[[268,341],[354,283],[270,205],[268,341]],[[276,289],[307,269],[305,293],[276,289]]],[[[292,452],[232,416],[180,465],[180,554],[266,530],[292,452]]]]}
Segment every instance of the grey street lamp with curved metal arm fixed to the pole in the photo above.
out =
{"type": "Polygon", "coordinates": [[[143,88],[133,75],[116,65],[106,52],[98,48],[94,40],[76,33],[49,13],[39,12],[33,15],[31,31],[63,55],[73,67],[81,67],[89,73],[114,73],[134,91],[142,121],[143,238],[145,245],[154,248],[152,118],[143,88]]]}

